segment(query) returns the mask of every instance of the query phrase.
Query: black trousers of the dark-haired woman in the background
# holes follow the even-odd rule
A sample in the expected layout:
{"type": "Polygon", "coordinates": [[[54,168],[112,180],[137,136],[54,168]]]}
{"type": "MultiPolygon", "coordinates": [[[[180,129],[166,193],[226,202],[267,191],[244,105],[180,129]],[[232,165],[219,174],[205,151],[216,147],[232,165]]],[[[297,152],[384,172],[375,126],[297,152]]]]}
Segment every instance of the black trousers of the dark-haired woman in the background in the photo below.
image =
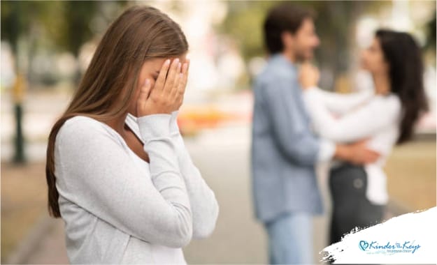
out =
{"type": "Polygon", "coordinates": [[[371,203],[366,197],[367,174],[364,167],[345,163],[329,172],[329,189],[333,210],[330,244],[354,227],[369,227],[382,221],[385,206],[371,203]]]}

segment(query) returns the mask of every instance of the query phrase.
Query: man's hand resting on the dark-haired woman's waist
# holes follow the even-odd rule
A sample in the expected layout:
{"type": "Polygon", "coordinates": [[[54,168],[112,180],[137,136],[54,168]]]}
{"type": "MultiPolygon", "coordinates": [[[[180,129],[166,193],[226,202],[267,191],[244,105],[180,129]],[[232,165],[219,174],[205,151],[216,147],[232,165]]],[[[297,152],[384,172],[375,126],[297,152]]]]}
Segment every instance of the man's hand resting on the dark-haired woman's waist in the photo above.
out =
{"type": "Polygon", "coordinates": [[[355,165],[375,162],[380,157],[380,154],[368,149],[366,143],[367,139],[348,145],[337,144],[335,157],[352,162],[355,165]]]}

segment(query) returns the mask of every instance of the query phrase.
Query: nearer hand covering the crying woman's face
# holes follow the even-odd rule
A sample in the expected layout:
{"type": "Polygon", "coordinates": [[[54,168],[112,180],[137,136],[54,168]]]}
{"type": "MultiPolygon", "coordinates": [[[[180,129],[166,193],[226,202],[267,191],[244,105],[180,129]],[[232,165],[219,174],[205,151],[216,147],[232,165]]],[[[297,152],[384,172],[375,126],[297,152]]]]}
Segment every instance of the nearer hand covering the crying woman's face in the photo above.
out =
{"type": "Polygon", "coordinates": [[[141,87],[136,103],[137,115],[171,114],[178,110],[185,93],[188,67],[188,60],[182,65],[178,58],[174,59],[173,63],[167,59],[162,65],[155,86],[152,88],[150,80],[146,79],[141,87]]]}

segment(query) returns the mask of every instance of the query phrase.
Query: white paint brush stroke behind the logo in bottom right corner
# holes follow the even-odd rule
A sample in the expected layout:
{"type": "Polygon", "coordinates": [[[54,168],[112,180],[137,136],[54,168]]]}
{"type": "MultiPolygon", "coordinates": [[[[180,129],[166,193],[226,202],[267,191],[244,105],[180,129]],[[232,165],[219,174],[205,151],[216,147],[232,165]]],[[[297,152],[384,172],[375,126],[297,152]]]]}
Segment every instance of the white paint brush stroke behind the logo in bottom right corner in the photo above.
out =
{"type": "Polygon", "coordinates": [[[435,264],[436,220],[434,207],[399,215],[366,229],[356,227],[340,242],[324,248],[321,262],[331,255],[336,259],[334,264],[435,264]]]}

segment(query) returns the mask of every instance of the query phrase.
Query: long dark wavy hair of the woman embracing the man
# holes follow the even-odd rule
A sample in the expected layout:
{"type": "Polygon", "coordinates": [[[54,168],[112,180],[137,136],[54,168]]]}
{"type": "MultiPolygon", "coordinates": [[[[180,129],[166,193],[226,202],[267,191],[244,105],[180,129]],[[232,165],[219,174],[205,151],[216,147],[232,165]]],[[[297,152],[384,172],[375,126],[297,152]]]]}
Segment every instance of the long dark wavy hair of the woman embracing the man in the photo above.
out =
{"type": "Polygon", "coordinates": [[[375,33],[385,61],[389,64],[392,92],[399,96],[402,104],[400,135],[397,144],[413,136],[415,123],[428,110],[424,91],[422,51],[408,33],[379,29],[375,33]]]}

